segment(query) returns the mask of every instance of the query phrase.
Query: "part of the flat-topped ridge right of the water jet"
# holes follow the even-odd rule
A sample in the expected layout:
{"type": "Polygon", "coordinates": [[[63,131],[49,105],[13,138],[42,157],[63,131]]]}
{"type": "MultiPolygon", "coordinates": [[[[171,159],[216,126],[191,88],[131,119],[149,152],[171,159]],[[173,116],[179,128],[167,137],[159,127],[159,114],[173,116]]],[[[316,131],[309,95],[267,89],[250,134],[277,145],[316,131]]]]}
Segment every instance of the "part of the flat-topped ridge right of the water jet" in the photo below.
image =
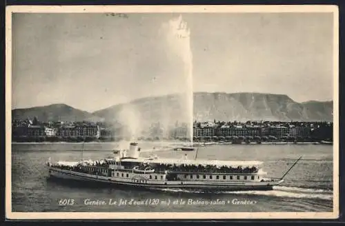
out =
{"type": "Polygon", "coordinates": [[[195,119],[204,121],[332,121],[333,101],[297,103],[286,95],[197,93],[195,119]]]}

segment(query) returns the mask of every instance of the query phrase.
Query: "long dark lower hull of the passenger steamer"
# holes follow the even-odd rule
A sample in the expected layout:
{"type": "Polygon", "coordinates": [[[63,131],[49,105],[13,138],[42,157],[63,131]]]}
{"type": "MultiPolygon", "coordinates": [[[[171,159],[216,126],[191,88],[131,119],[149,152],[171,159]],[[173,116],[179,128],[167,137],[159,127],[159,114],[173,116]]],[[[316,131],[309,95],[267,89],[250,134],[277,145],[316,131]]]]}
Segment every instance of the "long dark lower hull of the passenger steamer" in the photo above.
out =
{"type": "Polygon", "coordinates": [[[141,181],[119,180],[109,176],[96,176],[73,172],[70,170],[59,170],[50,168],[49,176],[52,179],[78,181],[83,183],[94,183],[95,185],[110,185],[116,187],[135,187],[142,189],[188,189],[202,190],[206,192],[217,191],[244,191],[244,190],[272,190],[273,186],[283,181],[257,182],[257,183],[213,183],[203,181],[141,181]]]}

